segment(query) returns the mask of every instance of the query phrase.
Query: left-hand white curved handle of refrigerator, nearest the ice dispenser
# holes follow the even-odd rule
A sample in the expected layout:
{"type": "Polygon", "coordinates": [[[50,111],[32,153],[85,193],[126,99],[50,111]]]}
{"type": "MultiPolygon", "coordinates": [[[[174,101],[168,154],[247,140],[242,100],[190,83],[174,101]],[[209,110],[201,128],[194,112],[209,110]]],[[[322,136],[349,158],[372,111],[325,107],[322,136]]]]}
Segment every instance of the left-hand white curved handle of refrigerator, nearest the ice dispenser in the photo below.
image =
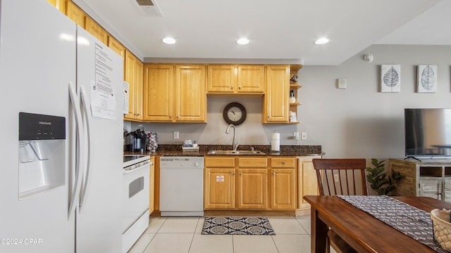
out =
{"type": "Polygon", "coordinates": [[[69,96],[70,103],[72,105],[72,110],[75,117],[75,129],[76,129],[76,159],[75,159],[75,182],[73,183],[73,188],[70,195],[70,204],[68,209],[68,219],[72,219],[72,216],[75,215],[75,200],[77,199],[77,195],[80,194],[81,188],[81,180],[80,175],[82,175],[82,171],[80,169],[80,163],[82,161],[83,152],[81,149],[80,142],[82,141],[83,131],[82,131],[82,113],[80,110],[80,106],[78,105],[78,96],[77,91],[75,90],[75,84],[73,82],[69,82],[69,96]]]}

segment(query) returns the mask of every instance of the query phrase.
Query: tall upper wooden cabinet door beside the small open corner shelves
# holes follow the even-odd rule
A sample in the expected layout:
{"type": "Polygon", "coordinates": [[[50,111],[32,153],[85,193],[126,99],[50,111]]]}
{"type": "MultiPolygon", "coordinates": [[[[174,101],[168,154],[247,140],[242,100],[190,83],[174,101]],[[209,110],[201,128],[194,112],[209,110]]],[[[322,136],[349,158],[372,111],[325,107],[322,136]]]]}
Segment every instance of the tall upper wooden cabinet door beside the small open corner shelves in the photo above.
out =
{"type": "Polygon", "coordinates": [[[262,122],[264,123],[288,123],[290,104],[290,66],[268,65],[266,66],[266,93],[262,122]]]}

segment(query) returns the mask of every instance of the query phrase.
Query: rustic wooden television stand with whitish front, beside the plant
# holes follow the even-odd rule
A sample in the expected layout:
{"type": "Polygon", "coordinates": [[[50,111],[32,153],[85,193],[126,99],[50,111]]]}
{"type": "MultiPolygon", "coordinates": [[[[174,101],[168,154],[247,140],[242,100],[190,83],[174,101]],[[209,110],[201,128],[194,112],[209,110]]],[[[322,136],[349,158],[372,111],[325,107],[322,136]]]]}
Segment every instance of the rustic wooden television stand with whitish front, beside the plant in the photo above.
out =
{"type": "MultiPolygon", "coordinates": [[[[408,157],[409,158],[409,157],[408,157]]],[[[418,161],[390,158],[388,170],[400,172],[402,178],[395,182],[393,195],[410,197],[433,197],[451,202],[451,159],[428,159],[418,161]]]]}

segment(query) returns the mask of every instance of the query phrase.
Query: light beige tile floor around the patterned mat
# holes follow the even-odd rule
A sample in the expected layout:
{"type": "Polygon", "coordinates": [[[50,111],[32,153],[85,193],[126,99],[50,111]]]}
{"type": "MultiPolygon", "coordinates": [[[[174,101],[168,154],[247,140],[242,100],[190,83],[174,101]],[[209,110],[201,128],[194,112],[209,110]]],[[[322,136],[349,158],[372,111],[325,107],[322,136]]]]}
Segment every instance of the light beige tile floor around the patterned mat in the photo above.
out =
{"type": "Polygon", "coordinates": [[[202,235],[203,217],[154,217],[128,253],[310,252],[310,216],[267,217],[276,235],[202,235]]]}

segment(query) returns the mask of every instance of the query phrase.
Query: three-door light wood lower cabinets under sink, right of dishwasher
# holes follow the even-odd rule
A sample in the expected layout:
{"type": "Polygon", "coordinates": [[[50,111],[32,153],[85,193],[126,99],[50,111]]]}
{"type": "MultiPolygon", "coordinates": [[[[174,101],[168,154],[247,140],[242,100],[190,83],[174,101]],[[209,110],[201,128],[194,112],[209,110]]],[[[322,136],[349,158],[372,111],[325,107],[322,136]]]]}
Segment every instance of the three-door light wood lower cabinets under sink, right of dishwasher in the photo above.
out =
{"type": "Polygon", "coordinates": [[[205,157],[204,209],[295,210],[297,160],[272,159],[205,157]]]}

